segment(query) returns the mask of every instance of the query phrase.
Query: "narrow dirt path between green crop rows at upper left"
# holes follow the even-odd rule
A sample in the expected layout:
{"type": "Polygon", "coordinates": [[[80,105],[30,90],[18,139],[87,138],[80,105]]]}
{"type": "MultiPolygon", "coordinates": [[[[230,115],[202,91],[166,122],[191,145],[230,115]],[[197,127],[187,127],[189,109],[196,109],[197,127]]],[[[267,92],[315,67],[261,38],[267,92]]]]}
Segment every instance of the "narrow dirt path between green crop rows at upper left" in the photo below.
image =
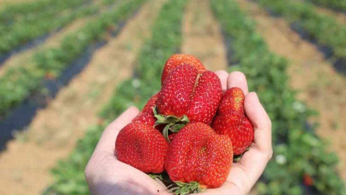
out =
{"type": "MultiPolygon", "coordinates": [[[[100,0],[93,0],[93,3],[91,5],[96,5],[99,2],[100,0]]],[[[35,54],[39,50],[42,50],[43,48],[59,46],[60,42],[67,34],[75,32],[75,30],[79,29],[84,24],[91,21],[94,17],[95,16],[89,16],[85,18],[76,19],[71,24],[65,26],[59,32],[53,33],[43,43],[40,43],[39,45],[33,48],[30,48],[24,52],[20,52],[9,57],[9,59],[3,62],[3,64],[0,67],[0,77],[3,76],[3,74],[5,74],[8,68],[10,67],[33,65],[31,60],[33,54],[35,54]]]]}

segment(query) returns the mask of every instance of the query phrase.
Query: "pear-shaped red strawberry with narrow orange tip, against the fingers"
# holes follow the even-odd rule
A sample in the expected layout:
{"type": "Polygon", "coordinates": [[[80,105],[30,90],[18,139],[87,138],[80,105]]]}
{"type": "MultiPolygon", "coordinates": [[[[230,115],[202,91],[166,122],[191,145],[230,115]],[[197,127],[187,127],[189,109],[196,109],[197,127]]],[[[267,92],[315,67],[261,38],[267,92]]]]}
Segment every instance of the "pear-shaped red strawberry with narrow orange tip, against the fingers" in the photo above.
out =
{"type": "Polygon", "coordinates": [[[243,153],[254,140],[254,127],[244,112],[242,89],[228,89],[222,97],[212,128],[218,134],[226,134],[232,141],[235,155],[243,153]]]}

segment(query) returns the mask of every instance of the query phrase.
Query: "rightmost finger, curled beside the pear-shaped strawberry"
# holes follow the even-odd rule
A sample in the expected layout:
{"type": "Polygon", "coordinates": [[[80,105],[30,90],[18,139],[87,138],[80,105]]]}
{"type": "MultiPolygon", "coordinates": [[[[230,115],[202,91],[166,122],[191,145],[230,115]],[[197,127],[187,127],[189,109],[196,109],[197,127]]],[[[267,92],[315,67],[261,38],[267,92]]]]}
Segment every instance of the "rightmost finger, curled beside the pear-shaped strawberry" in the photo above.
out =
{"type": "Polygon", "coordinates": [[[255,92],[245,96],[244,108],[246,116],[254,125],[255,135],[252,147],[260,152],[271,152],[272,124],[255,92]]]}

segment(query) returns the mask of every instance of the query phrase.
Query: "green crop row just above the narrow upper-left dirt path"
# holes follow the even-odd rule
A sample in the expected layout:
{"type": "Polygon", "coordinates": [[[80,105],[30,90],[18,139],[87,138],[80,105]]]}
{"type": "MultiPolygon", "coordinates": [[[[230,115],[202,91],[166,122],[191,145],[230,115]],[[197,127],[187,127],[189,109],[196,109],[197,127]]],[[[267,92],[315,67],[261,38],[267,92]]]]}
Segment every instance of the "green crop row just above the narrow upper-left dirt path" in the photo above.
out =
{"type": "MultiPolygon", "coordinates": [[[[81,1],[82,2],[82,1],[81,1]]],[[[101,6],[106,6],[109,1],[103,0],[100,5],[82,6],[76,10],[69,10],[57,17],[57,13],[45,12],[44,16],[37,15],[33,23],[26,20],[20,21],[9,27],[8,32],[0,35],[0,55],[32,41],[33,39],[57,30],[72,23],[76,18],[86,17],[98,13],[101,6]],[[49,21],[49,22],[48,22],[49,21]]]]}

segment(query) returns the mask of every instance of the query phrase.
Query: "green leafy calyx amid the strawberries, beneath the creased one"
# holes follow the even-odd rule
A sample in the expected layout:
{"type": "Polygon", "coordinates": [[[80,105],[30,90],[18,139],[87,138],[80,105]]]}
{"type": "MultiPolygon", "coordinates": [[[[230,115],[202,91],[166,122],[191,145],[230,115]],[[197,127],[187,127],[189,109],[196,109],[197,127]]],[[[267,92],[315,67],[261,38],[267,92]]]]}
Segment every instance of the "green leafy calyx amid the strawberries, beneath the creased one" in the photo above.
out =
{"type": "Polygon", "coordinates": [[[157,118],[154,127],[156,125],[165,124],[162,134],[166,138],[168,143],[171,143],[170,139],[168,138],[169,131],[172,133],[177,133],[181,130],[181,128],[183,128],[186,124],[190,122],[189,118],[186,115],[184,115],[183,117],[176,117],[173,115],[166,116],[158,114],[156,111],[156,107],[153,107],[153,112],[155,118],[157,118]]]}

